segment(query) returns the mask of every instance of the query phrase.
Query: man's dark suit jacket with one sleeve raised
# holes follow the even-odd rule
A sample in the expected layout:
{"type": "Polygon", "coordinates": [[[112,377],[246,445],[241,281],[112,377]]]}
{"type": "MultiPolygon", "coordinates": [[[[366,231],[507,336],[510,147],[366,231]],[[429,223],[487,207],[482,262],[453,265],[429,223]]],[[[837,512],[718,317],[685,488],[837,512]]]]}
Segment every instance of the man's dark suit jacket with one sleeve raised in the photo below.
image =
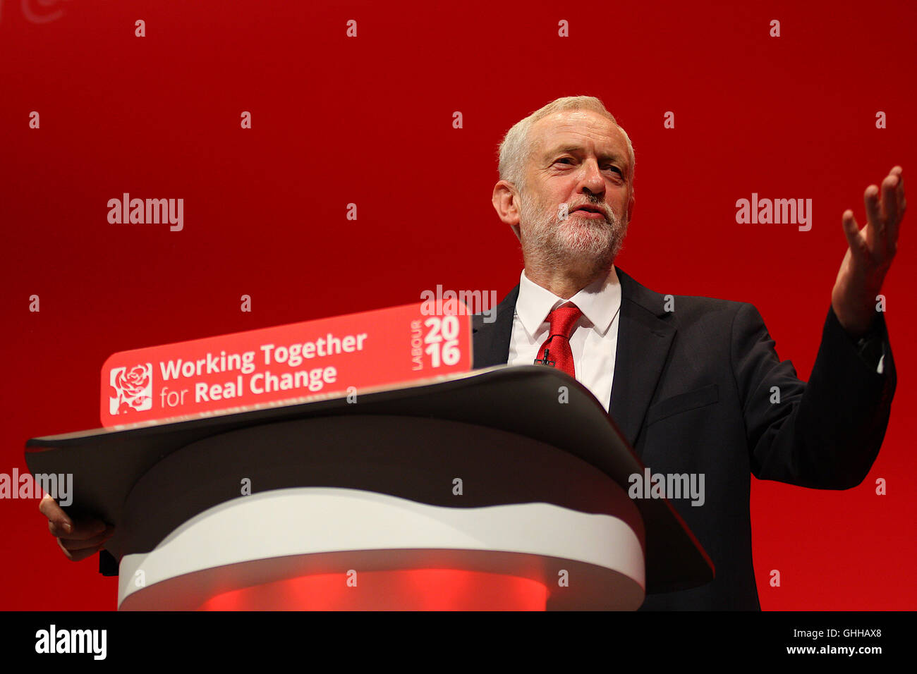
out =
{"type": "MultiPolygon", "coordinates": [[[[643,608],[759,610],[750,476],[817,489],[866,478],[896,384],[884,315],[857,343],[829,309],[806,383],[780,362],[752,304],[675,295],[667,312],[663,295],[615,271],[622,297],[609,414],[654,473],[704,474],[702,506],[671,503],[716,567],[712,582],[648,595],[643,608]]],[[[507,362],[518,296],[517,285],[490,324],[474,316],[475,368],[507,362]]]]}

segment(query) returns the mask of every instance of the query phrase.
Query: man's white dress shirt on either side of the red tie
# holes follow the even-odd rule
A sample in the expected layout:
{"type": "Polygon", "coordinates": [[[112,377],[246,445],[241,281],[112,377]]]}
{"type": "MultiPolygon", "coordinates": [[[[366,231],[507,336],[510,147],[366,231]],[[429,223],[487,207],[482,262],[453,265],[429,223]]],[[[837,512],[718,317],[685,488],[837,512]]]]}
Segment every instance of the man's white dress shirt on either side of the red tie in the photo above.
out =
{"type": "Polygon", "coordinates": [[[569,300],[529,281],[523,270],[519,276],[519,299],[507,362],[509,365],[531,365],[550,332],[547,315],[567,302],[576,304],[582,312],[570,335],[577,381],[592,392],[607,412],[612,396],[621,309],[621,283],[614,266],[608,276],[590,283],[569,300]]]}

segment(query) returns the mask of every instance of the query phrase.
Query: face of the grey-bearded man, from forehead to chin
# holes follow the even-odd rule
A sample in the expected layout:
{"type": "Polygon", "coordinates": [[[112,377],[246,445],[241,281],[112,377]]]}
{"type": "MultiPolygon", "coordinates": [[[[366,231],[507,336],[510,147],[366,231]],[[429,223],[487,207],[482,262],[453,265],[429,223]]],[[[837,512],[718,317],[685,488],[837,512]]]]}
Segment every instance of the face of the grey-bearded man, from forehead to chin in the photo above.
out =
{"type": "Polygon", "coordinates": [[[570,110],[538,120],[529,141],[519,214],[524,252],[555,264],[613,260],[633,203],[624,134],[598,113],[570,110]]]}

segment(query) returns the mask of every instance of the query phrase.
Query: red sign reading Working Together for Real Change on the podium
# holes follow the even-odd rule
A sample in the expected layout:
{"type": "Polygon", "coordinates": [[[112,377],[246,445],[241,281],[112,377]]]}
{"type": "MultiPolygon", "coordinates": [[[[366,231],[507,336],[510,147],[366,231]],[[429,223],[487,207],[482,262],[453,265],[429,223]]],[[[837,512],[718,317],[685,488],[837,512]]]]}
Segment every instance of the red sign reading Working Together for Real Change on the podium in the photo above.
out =
{"type": "Polygon", "coordinates": [[[471,369],[469,315],[423,304],[121,351],[102,367],[105,427],[359,396],[471,369]]]}

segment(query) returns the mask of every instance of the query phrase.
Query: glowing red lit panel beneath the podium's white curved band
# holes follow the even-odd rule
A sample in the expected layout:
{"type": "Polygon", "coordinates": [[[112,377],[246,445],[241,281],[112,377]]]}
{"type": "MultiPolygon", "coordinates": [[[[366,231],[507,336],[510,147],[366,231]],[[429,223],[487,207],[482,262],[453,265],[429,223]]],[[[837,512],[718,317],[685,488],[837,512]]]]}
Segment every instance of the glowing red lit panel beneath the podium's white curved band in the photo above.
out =
{"type": "Polygon", "coordinates": [[[278,580],[222,592],[201,611],[544,611],[537,580],[457,569],[359,571],[278,580]],[[353,577],[353,574],[351,574],[353,577]]]}

